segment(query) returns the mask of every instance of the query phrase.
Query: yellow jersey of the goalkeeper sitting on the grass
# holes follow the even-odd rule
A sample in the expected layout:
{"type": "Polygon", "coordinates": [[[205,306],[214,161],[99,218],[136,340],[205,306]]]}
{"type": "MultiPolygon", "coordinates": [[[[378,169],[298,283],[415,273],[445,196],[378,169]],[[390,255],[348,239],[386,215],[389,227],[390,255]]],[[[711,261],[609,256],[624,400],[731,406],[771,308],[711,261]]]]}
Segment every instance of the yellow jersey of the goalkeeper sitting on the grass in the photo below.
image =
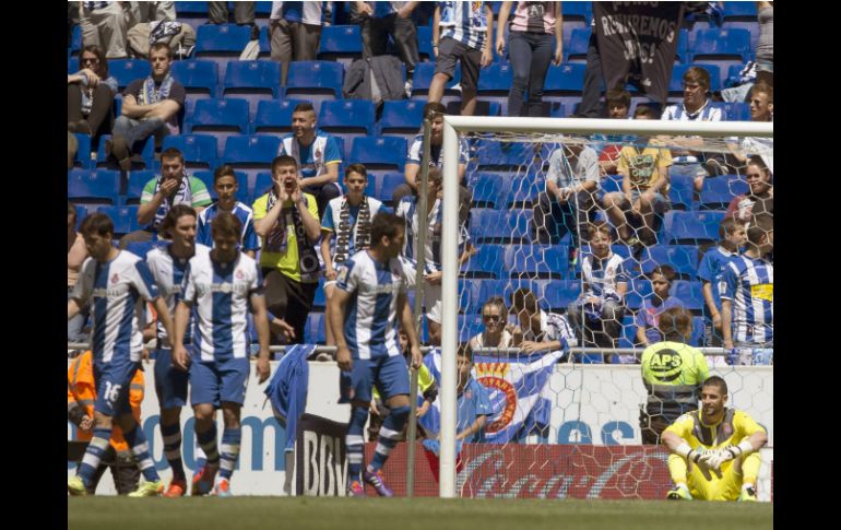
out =
{"type": "Polygon", "coordinates": [[[739,441],[754,433],[765,432],[753,417],[737,409],[727,409],[724,417],[716,424],[704,425],[701,421],[701,411],[687,412],[675,423],[666,427],[666,433],[674,433],[684,438],[692,449],[719,449],[739,441]]]}

